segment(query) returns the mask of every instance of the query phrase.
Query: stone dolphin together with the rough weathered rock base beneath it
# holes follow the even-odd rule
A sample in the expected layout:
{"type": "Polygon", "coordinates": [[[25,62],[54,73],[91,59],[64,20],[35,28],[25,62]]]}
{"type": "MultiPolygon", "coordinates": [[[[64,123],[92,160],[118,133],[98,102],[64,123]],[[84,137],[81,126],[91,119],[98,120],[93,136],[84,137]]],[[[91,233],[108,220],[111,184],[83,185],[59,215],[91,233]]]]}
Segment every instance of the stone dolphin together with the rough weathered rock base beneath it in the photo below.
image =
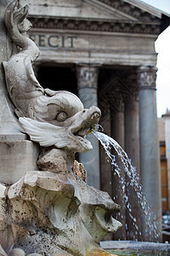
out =
{"type": "Polygon", "coordinates": [[[5,25],[18,52],[3,67],[20,125],[41,146],[39,171],[10,186],[0,184],[0,253],[109,255],[99,241],[121,227],[111,216],[120,207],[84,182],[85,170],[75,161],[76,152],[92,148],[85,136],[98,123],[99,108],[84,109],[71,92],[44,90],[37,82],[31,63],[39,49],[26,37],[27,13],[18,1],[6,10],[5,25]]]}

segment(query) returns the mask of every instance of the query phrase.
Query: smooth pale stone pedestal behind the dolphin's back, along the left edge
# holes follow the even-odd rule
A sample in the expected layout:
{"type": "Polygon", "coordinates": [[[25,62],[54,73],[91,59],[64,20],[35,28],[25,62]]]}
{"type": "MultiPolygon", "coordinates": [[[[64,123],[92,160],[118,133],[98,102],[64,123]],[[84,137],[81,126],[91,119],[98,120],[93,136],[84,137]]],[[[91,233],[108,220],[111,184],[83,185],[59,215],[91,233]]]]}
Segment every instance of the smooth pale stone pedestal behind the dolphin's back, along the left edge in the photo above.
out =
{"type": "Polygon", "coordinates": [[[3,22],[9,3],[9,0],[0,2],[0,183],[6,184],[15,183],[27,171],[37,170],[38,154],[35,143],[27,141],[22,132],[6,89],[2,62],[8,61],[14,51],[3,22]]]}

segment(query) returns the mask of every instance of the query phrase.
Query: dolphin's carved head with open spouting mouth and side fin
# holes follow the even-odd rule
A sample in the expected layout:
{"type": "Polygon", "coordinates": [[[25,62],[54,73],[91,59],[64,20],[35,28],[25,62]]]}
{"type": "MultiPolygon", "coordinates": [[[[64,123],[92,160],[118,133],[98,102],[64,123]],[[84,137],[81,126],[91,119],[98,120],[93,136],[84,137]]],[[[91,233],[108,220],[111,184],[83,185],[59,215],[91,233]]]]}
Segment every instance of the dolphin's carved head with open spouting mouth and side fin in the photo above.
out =
{"type": "Polygon", "coordinates": [[[34,108],[35,119],[20,118],[32,141],[43,147],[55,146],[73,152],[92,149],[85,137],[99,122],[99,108],[84,109],[80,99],[71,92],[49,90],[48,96],[39,97],[34,108]]]}

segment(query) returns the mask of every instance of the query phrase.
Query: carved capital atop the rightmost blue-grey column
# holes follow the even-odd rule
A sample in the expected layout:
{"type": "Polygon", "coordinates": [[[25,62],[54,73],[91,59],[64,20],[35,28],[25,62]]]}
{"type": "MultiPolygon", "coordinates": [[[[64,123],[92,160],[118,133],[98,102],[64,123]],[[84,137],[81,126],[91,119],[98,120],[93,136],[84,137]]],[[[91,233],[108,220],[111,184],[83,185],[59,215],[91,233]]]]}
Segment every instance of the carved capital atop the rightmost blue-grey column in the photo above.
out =
{"type": "Polygon", "coordinates": [[[139,90],[156,90],[156,66],[141,66],[137,69],[139,90]]]}

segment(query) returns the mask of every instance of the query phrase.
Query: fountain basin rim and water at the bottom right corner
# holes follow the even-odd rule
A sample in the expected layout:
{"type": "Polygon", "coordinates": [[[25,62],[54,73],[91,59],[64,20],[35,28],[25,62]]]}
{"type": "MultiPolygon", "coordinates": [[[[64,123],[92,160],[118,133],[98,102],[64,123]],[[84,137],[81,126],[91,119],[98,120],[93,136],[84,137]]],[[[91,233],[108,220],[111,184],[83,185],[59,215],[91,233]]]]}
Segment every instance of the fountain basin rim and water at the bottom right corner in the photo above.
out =
{"type": "Polygon", "coordinates": [[[116,249],[122,250],[122,255],[135,255],[133,253],[137,253],[136,255],[170,255],[170,244],[166,243],[148,241],[100,241],[100,247],[110,253],[117,253],[117,251],[114,252],[116,249]],[[125,249],[128,253],[123,254],[125,249]],[[129,251],[132,253],[129,253],[129,251]],[[139,254],[141,251],[143,253],[139,254]]]}

